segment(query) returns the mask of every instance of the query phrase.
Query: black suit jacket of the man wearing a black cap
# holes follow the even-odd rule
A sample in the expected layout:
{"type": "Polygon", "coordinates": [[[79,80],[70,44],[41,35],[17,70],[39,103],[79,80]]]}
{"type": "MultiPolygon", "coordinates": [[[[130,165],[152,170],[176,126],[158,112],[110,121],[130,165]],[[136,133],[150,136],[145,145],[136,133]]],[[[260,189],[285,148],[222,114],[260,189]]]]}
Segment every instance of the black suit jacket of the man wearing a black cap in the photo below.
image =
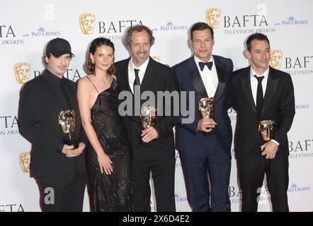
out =
{"type": "MultiPolygon", "coordinates": [[[[85,172],[84,152],[77,157],[66,157],[59,153],[64,139],[68,135],[62,133],[57,124],[57,114],[69,109],[61,92],[55,90],[49,79],[55,76],[45,70],[41,76],[25,83],[21,90],[18,121],[22,135],[32,143],[31,174],[37,177],[63,177],[85,172]],[[50,78],[49,78],[50,76],[50,78]]],[[[76,97],[76,83],[67,81],[67,89],[75,110],[74,137],[86,144],[84,130],[81,129],[81,118],[76,97]]]]}

